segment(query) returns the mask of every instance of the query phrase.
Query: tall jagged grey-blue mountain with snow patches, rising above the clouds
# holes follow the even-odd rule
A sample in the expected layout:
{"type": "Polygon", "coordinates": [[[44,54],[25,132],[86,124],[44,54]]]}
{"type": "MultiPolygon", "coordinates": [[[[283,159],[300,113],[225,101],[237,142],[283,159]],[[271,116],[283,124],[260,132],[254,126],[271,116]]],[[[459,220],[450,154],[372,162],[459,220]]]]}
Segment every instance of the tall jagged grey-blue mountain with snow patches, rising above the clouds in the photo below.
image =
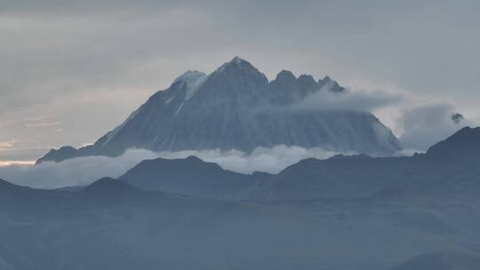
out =
{"type": "Polygon", "coordinates": [[[115,130],[72,154],[53,150],[38,162],[84,155],[121,155],[131,147],[153,151],[237,149],[276,145],[323,147],[337,152],[391,155],[396,137],[372,114],[298,110],[293,106],[317,91],[347,91],[326,76],[295,77],[282,71],[268,78],[236,57],[210,75],[188,71],[157,91],[115,130]]]}

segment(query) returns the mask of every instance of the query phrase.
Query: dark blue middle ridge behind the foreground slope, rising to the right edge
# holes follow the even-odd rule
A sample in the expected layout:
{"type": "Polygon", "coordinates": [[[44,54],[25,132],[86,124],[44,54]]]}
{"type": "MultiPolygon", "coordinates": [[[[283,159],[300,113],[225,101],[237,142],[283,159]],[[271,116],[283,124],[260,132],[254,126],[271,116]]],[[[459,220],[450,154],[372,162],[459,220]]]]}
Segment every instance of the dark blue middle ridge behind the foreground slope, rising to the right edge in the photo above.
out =
{"type": "Polygon", "coordinates": [[[119,179],[146,190],[210,199],[401,199],[455,192],[475,196],[480,193],[479,145],[480,128],[464,128],[421,155],[310,158],[278,174],[226,171],[195,156],[158,158],[139,163],[119,179]]]}

